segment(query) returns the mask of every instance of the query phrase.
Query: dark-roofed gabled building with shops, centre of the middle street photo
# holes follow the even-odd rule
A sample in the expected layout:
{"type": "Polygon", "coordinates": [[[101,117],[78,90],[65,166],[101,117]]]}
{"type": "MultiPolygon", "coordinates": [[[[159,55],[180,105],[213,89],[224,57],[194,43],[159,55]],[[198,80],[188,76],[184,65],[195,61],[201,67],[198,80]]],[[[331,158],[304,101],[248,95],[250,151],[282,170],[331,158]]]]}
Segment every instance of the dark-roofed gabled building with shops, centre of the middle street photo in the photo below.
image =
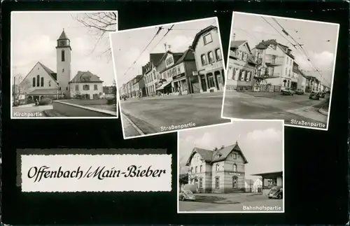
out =
{"type": "Polygon", "coordinates": [[[188,49],[185,52],[166,52],[160,60],[160,65],[164,69],[159,71],[162,85],[158,86],[157,91],[162,93],[178,93],[190,94],[200,92],[198,87],[197,76],[193,76],[193,72],[197,71],[195,55],[193,50],[188,49]],[[170,90],[171,85],[171,90],[170,90]]]}

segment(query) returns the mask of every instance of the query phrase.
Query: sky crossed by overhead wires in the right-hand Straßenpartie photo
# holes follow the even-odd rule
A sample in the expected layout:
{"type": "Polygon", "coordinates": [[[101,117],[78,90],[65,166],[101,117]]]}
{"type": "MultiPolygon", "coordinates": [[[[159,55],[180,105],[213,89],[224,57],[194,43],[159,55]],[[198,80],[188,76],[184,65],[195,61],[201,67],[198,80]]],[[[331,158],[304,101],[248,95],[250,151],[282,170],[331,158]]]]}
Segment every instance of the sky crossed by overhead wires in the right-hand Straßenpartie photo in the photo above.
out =
{"type": "Polygon", "coordinates": [[[311,22],[310,20],[292,20],[287,17],[234,13],[231,38],[235,34],[235,40],[247,40],[251,48],[254,48],[261,40],[276,39],[277,42],[289,46],[295,56],[295,62],[299,64],[301,69],[314,71],[311,74],[316,75],[321,83],[330,85],[334,68],[338,27],[337,24],[311,22]],[[268,24],[264,18],[278,31],[268,24]],[[298,51],[293,47],[295,41],[290,36],[287,37],[283,34],[282,28],[272,18],[276,19],[288,34],[302,45],[302,48],[309,55],[311,63],[321,70],[321,76],[318,76],[318,73],[315,73],[314,69],[311,68],[302,51],[299,48],[298,51]],[[283,37],[286,37],[288,41],[283,37]]]}

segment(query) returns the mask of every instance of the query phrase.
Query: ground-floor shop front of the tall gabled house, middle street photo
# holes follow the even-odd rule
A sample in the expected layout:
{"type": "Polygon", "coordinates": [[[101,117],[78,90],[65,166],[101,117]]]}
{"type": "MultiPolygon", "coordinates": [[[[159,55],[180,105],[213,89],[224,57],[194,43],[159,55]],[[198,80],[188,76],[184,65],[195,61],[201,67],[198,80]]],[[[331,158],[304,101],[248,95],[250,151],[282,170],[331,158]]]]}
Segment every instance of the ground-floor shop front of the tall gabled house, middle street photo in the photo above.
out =
{"type": "Polygon", "coordinates": [[[204,70],[198,71],[200,92],[217,92],[225,86],[223,62],[208,64],[204,70]]]}

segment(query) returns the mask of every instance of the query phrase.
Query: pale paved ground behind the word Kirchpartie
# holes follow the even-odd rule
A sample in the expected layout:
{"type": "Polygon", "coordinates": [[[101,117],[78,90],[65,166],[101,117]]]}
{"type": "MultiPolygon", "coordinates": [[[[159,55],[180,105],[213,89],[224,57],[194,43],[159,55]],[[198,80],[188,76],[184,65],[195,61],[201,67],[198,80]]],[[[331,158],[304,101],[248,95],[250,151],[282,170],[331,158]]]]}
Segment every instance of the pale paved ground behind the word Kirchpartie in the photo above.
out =
{"type": "Polygon", "coordinates": [[[13,118],[38,118],[46,117],[43,113],[45,110],[51,110],[52,105],[34,106],[34,104],[25,104],[21,106],[12,107],[13,118]]]}

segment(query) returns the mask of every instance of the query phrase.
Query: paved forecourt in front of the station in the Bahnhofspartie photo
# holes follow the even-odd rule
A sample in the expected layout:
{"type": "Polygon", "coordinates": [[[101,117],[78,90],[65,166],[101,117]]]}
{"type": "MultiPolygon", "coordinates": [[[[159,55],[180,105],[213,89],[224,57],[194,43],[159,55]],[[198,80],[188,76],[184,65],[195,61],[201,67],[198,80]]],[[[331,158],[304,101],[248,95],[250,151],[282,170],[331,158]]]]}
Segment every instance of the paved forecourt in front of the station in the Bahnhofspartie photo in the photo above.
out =
{"type": "Polygon", "coordinates": [[[179,201],[181,212],[283,211],[283,199],[268,199],[258,193],[195,194],[196,201],[179,201]],[[203,199],[204,197],[204,199],[203,199]],[[205,199],[220,198],[216,202],[205,199]]]}

